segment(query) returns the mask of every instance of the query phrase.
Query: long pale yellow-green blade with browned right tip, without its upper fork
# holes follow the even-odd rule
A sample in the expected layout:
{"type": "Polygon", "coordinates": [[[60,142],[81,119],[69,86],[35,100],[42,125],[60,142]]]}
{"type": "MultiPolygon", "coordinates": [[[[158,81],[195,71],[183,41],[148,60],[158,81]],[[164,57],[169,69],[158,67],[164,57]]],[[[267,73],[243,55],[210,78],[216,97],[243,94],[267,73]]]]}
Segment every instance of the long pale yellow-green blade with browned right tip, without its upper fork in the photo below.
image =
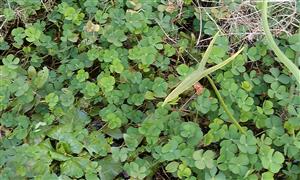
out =
{"type": "Polygon", "coordinates": [[[211,74],[212,72],[222,68],[229,62],[235,59],[237,55],[239,55],[244,48],[241,48],[238,52],[233,54],[231,57],[226,59],[225,61],[208,68],[206,70],[197,69],[193,73],[191,73],[189,76],[187,76],[165,99],[163,102],[163,106],[166,105],[168,102],[172,101],[176,97],[178,97],[180,94],[182,94],[184,91],[186,91],[188,88],[190,88],[192,85],[194,85],[197,81],[201,80],[203,77],[211,74]]]}

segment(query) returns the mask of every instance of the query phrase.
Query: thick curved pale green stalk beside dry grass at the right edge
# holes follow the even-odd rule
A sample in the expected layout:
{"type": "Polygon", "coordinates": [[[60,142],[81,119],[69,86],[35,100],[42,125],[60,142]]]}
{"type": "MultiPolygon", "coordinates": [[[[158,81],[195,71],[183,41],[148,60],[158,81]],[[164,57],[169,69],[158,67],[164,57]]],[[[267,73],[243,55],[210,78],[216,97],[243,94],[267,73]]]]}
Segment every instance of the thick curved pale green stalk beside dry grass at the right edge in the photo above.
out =
{"type": "Polygon", "coordinates": [[[278,60],[284,64],[289,71],[294,75],[296,81],[300,84],[300,70],[299,68],[288,58],[286,55],[279,49],[277,44],[275,43],[273,36],[270,31],[269,23],[268,23],[268,2],[266,0],[263,1],[262,4],[262,25],[266,34],[266,38],[271,49],[274,51],[278,60]]]}

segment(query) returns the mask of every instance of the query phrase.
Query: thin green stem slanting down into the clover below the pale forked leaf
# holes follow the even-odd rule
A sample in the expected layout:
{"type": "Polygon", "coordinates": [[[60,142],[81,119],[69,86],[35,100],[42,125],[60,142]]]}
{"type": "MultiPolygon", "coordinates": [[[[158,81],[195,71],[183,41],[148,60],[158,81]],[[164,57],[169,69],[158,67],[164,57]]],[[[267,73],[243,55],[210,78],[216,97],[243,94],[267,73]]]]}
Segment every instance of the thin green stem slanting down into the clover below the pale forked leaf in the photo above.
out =
{"type": "Polygon", "coordinates": [[[233,117],[233,115],[231,114],[231,112],[228,110],[225,102],[224,102],[224,99],[222,98],[218,88],[216,87],[214,81],[209,77],[209,76],[206,76],[209,83],[211,84],[212,88],[214,89],[215,91],[215,94],[217,95],[220,103],[221,103],[221,106],[223,107],[224,111],[226,112],[226,114],[228,115],[229,119],[231,120],[231,122],[240,130],[241,133],[243,134],[246,134],[246,131],[242,128],[242,126],[238,123],[238,121],[233,117]]]}

